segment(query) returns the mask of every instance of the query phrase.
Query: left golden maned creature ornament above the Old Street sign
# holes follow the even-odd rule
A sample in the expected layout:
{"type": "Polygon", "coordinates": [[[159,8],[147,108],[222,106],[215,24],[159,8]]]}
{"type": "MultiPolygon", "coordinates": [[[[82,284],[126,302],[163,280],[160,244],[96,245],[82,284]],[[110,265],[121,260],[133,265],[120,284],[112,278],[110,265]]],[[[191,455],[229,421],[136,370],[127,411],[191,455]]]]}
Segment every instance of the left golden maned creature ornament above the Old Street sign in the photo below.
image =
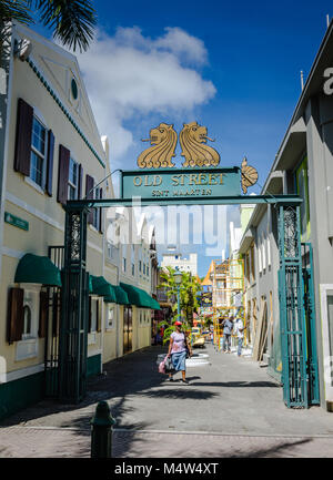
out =
{"type": "Polygon", "coordinates": [[[160,123],[158,127],[151,129],[149,136],[142,142],[150,142],[153,146],[144,150],[138,156],[138,166],[140,168],[168,168],[174,166],[171,159],[175,156],[178,135],[173,130],[173,125],[160,123]]]}

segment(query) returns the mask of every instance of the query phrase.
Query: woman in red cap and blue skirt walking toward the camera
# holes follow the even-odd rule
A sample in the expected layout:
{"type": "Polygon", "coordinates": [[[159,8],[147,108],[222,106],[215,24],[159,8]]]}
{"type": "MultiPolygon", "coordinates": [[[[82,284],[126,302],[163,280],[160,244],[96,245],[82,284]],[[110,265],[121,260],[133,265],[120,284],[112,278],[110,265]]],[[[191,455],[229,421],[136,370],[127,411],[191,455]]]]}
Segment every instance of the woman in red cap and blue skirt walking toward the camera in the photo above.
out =
{"type": "MultiPolygon", "coordinates": [[[[172,365],[175,371],[182,372],[182,382],[189,384],[186,380],[186,348],[189,349],[190,357],[192,356],[191,345],[188,343],[185,333],[182,331],[182,323],[175,321],[175,331],[171,334],[168,357],[171,356],[172,365]]],[[[172,374],[169,374],[169,381],[173,381],[172,374]]]]}

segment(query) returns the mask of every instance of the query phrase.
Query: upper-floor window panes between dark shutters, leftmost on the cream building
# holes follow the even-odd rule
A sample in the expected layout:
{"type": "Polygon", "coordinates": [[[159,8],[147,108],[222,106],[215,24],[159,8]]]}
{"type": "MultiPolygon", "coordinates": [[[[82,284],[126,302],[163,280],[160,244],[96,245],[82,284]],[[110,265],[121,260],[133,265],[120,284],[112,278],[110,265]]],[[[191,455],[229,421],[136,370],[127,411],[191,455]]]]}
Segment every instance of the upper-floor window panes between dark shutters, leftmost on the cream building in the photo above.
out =
{"type": "Polygon", "coordinates": [[[32,137],[31,137],[31,156],[30,156],[30,178],[44,188],[47,174],[47,129],[33,116],[32,137]]]}

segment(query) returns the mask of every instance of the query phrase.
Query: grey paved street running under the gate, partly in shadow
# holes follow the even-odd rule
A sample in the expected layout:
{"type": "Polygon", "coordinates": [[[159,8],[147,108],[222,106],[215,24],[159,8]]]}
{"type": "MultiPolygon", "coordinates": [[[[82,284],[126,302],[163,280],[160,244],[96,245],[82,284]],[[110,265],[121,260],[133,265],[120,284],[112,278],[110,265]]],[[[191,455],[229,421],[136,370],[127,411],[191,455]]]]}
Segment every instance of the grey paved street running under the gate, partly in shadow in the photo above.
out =
{"type": "MultiPolygon", "coordinates": [[[[79,406],[42,401],[2,421],[0,457],[89,457],[95,405],[117,419],[114,457],[333,457],[333,416],[287,409],[282,389],[250,358],[215,353],[169,384],[150,347],[105,366],[79,406]]],[[[202,350],[200,350],[202,351],[202,350]]]]}

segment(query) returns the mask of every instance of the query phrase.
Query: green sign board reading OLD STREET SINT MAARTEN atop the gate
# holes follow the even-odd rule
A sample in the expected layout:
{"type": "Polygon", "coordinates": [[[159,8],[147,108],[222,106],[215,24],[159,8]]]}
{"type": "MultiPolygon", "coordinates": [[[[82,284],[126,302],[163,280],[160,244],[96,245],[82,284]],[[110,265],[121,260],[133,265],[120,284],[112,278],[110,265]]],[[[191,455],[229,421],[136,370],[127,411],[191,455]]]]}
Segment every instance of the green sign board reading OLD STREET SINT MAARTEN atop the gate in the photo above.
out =
{"type": "Polygon", "coordinates": [[[122,172],[122,197],[175,198],[240,195],[240,167],[159,168],[122,172]]]}

